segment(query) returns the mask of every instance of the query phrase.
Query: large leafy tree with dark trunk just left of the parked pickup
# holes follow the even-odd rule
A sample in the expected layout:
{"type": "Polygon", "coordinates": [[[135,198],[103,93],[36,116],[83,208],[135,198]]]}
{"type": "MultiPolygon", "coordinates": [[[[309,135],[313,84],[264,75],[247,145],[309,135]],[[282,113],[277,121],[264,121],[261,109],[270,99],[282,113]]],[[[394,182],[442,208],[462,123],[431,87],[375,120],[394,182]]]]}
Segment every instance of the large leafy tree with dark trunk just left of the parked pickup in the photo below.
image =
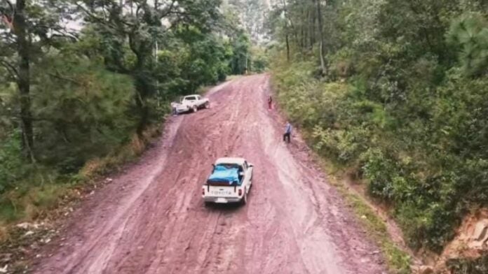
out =
{"type": "MultiPolygon", "coordinates": [[[[134,94],[139,116],[137,133],[149,122],[148,99],[156,94],[153,49],[158,39],[176,27],[198,27],[210,31],[218,20],[219,0],[198,1],[75,1],[85,20],[93,24],[102,37],[107,69],[131,75],[135,80],[134,94]],[[163,20],[168,22],[162,24],[163,20]],[[128,41],[126,48],[125,41],[128,41]]],[[[164,44],[160,44],[161,47],[164,44]]],[[[161,48],[162,49],[162,48],[161,48]]]]}

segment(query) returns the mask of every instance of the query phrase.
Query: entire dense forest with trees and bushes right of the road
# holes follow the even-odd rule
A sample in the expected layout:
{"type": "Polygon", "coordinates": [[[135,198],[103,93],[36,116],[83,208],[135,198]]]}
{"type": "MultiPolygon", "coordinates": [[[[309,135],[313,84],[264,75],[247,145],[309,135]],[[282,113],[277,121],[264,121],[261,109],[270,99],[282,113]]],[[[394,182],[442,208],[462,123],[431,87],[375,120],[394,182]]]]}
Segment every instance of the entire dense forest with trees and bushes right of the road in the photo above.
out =
{"type": "Polygon", "coordinates": [[[278,99],[415,250],[488,205],[488,2],[281,0],[278,99]]]}

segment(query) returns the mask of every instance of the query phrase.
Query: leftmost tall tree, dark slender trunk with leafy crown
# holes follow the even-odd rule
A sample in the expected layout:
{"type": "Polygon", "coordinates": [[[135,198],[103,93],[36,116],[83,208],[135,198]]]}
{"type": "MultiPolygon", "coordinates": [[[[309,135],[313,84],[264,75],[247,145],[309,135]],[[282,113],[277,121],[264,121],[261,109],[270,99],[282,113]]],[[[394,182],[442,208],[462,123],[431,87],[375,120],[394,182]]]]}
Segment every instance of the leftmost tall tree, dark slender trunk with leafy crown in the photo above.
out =
{"type": "Polygon", "coordinates": [[[18,118],[22,134],[22,152],[34,161],[34,129],[31,110],[31,66],[43,48],[62,37],[74,38],[60,26],[64,13],[57,1],[4,1],[0,15],[6,24],[0,27],[0,65],[17,84],[20,98],[18,118]]]}

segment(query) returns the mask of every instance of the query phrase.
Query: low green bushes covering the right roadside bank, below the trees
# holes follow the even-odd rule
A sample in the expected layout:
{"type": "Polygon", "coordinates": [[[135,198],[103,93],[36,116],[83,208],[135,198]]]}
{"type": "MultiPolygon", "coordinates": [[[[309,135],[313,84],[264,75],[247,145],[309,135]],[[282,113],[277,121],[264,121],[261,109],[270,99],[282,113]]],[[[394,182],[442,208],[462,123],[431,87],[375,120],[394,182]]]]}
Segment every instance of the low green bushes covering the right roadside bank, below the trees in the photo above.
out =
{"type": "Polygon", "coordinates": [[[463,212],[487,204],[487,155],[478,142],[487,141],[481,117],[488,81],[454,70],[434,98],[416,99],[428,106],[416,108],[425,121],[400,113],[410,106],[390,110],[367,99],[362,81],[320,82],[312,70],[307,63],[275,69],[278,99],[290,118],[311,133],[320,154],[358,168],[370,194],[393,206],[412,247],[439,251],[463,212]],[[396,122],[400,115],[403,123],[396,122]]]}

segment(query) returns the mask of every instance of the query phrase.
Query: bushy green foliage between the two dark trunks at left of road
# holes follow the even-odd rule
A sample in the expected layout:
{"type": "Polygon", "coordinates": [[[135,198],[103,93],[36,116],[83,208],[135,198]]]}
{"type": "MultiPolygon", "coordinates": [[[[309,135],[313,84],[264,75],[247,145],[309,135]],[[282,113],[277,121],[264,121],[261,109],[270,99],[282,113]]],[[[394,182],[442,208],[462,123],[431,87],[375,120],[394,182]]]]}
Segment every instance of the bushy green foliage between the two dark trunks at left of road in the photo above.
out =
{"type": "Polygon", "coordinates": [[[128,141],[135,117],[133,81],[86,58],[58,55],[39,64],[32,90],[38,160],[63,172],[76,172],[128,141]],[[67,115],[69,113],[69,115],[67,115]]]}

